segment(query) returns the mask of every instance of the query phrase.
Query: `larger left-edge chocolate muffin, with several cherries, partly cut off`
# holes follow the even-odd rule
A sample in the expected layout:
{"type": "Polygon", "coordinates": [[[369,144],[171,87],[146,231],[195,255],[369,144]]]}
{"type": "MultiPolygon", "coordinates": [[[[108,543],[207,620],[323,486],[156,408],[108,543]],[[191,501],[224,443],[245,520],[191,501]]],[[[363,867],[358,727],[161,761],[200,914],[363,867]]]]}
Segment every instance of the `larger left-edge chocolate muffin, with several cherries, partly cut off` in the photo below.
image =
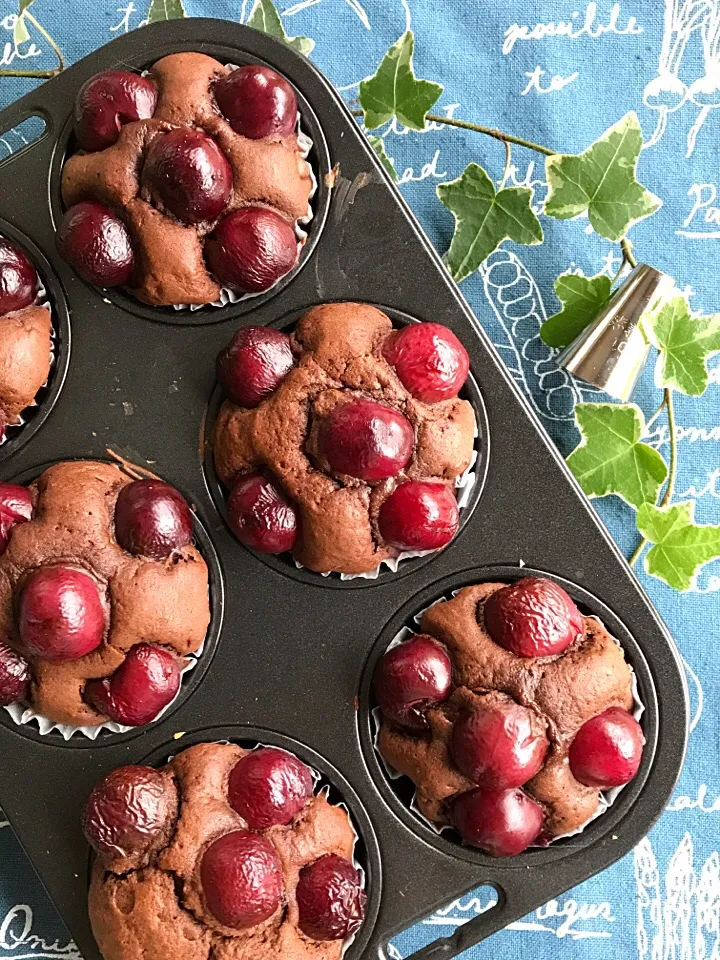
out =
{"type": "Polygon", "coordinates": [[[148,723],[210,622],[190,509],[93,461],[0,484],[0,706],[56,724],[148,723]]]}

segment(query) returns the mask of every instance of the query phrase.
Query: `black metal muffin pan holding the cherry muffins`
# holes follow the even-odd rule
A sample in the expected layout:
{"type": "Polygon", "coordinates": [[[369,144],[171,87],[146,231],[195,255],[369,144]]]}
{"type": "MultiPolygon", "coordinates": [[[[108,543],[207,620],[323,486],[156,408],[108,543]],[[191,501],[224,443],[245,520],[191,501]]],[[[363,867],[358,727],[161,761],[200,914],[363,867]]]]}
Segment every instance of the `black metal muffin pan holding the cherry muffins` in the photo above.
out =
{"type": "Polygon", "coordinates": [[[203,528],[219,559],[212,600],[222,626],[214,656],[160,721],[65,742],[16,726],[0,710],[0,803],[86,960],[98,951],[86,913],[80,811],[93,783],[119,764],[159,763],[203,739],[288,746],[347,803],[368,881],[367,920],[350,960],[387,956],[395,934],[491,884],[495,907],[413,955],[452,957],[631,850],[662,812],[683,760],[687,691],[677,651],[330,83],[264,34],[191,19],[118,38],[3,111],[0,129],[34,114],[45,121],[44,135],[2,164],[0,233],[33,255],[56,318],[69,314],[72,354],[68,364],[65,323],[50,396],[25,428],[32,435],[0,447],[0,478],[27,479],[49,462],[104,458],[112,450],[185,494],[198,517],[199,545],[210,550],[203,528]],[[309,240],[293,274],[260,297],[194,312],[93,289],[54,242],[80,85],[101,70],[142,70],[185,50],[225,63],[262,61],[288,77],[300,93],[318,178],[309,240]],[[232,333],[243,324],[284,327],[304,308],[338,300],[377,304],[396,322],[433,320],[453,329],[470,353],[467,396],[480,424],[479,496],[457,538],[374,581],[323,578],[247,551],[224,522],[205,459],[206,421],[217,403],[214,359],[232,333]],[[646,706],[647,746],[638,777],[581,834],[493,860],[436,835],[388,781],[372,747],[370,675],[418,610],[463,585],[510,581],[530,568],[558,579],[622,642],[646,706]]]}

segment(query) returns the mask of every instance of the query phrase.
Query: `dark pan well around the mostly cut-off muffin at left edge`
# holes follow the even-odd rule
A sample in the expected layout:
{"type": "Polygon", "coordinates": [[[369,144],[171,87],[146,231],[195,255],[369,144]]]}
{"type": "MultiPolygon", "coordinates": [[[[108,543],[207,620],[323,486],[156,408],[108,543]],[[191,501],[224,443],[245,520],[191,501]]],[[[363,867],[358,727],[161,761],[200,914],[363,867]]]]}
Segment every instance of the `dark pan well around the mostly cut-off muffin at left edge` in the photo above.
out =
{"type": "Polygon", "coordinates": [[[52,360],[48,379],[35,395],[35,402],[21,412],[23,422],[7,428],[5,440],[0,444],[0,464],[3,464],[36,436],[60,396],[70,363],[70,314],[63,289],[39,247],[7,220],[0,219],[0,236],[16,243],[29,255],[42,285],[37,302],[49,307],[52,321],[52,360]]]}

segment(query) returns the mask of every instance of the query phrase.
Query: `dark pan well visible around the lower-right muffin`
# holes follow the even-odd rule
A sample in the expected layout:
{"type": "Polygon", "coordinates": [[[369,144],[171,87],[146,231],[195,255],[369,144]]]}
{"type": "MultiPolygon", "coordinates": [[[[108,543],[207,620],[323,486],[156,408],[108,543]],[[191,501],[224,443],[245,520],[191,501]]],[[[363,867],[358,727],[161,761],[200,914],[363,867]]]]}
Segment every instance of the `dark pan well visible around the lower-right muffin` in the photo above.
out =
{"type": "MultiPolygon", "coordinates": [[[[503,577],[498,577],[497,580],[510,583],[513,580],[518,580],[525,576],[547,577],[548,574],[542,571],[528,570],[527,568],[524,568],[519,572],[516,572],[513,577],[503,576],[503,577]]],[[[487,576],[485,576],[483,580],[477,581],[477,582],[488,583],[488,582],[491,582],[492,579],[494,578],[488,578],[487,576]]],[[[608,627],[608,625],[602,621],[600,616],[598,616],[597,610],[595,609],[599,602],[597,598],[595,597],[590,598],[591,603],[588,603],[588,595],[586,594],[585,591],[579,591],[576,585],[569,584],[567,581],[559,580],[559,578],[557,577],[550,577],[550,579],[553,579],[556,582],[559,582],[561,586],[565,590],[567,590],[567,592],[570,593],[573,599],[578,603],[580,612],[583,614],[583,616],[592,617],[594,620],[596,620],[600,624],[600,626],[604,627],[608,631],[612,640],[615,641],[615,643],[620,647],[620,649],[623,650],[623,652],[625,652],[623,644],[616,638],[616,636],[613,634],[612,630],[608,627]],[[585,595],[582,596],[582,594],[585,594],[585,595]]],[[[469,584],[463,584],[463,586],[469,586],[469,584]]],[[[457,594],[461,590],[462,590],[462,587],[452,587],[451,589],[446,590],[445,593],[442,594],[442,596],[436,597],[431,603],[428,603],[426,606],[422,607],[422,609],[414,611],[409,621],[407,621],[398,630],[398,632],[392,638],[390,643],[385,647],[385,650],[381,652],[381,656],[387,650],[392,650],[394,647],[403,643],[405,640],[409,640],[412,636],[418,633],[421,633],[422,630],[420,629],[420,618],[422,617],[423,613],[425,613],[426,610],[429,610],[430,607],[434,606],[436,603],[442,603],[445,600],[451,600],[453,597],[457,596],[457,594]]],[[[376,660],[375,665],[377,665],[377,662],[378,661],[376,660]]],[[[645,704],[640,696],[638,677],[637,677],[637,674],[635,673],[635,669],[632,666],[632,663],[629,662],[629,660],[628,660],[628,663],[629,663],[630,672],[631,672],[631,684],[632,684],[631,690],[632,690],[632,697],[633,697],[633,707],[631,712],[633,717],[638,722],[641,723],[641,726],[643,726],[643,732],[645,732],[644,731],[645,724],[643,720],[643,716],[645,714],[645,704]]],[[[396,796],[398,797],[400,802],[403,803],[404,806],[409,806],[409,809],[412,811],[414,816],[420,821],[420,823],[424,828],[431,830],[436,836],[445,837],[446,839],[450,840],[452,843],[460,844],[461,843],[460,837],[457,831],[454,830],[453,827],[438,826],[437,824],[429,820],[426,816],[424,816],[424,814],[420,811],[417,805],[417,792],[415,789],[415,785],[412,783],[412,780],[409,777],[406,777],[404,774],[400,773],[398,770],[395,770],[392,766],[390,766],[390,764],[383,757],[382,751],[378,746],[378,738],[380,735],[380,724],[382,722],[380,708],[378,706],[372,706],[372,703],[373,703],[373,700],[372,700],[372,688],[371,688],[370,724],[371,724],[372,743],[375,749],[377,759],[379,760],[380,765],[383,771],[385,772],[385,776],[388,778],[390,782],[393,792],[396,794],[396,796]],[[409,803],[407,800],[408,795],[410,796],[409,803]]],[[[632,783],[632,781],[630,782],[632,783]]],[[[602,791],[600,793],[600,801],[598,804],[598,808],[595,811],[595,813],[588,820],[586,820],[585,823],[577,827],[575,830],[571,831],[570,833],[562,834],[558,837],[555,837],[555,839],[552,841],[552,844],[554,845],[556,843],[559,843],[562,840],[569,839],[570,837],[576,837],[576,836],[579,836],[581,833],[583,833],[590,826],[591,823],[593,823],[595,820],[598,819],[598,817],[602,817],[607,813],[610,807],[612,807],[612,805],[617,800],[618,796],[624,790],[626,790],[627,787],[628,787],[628,784],[623,784],[620,787],[612,787],[611,789],[602,791]]],[[[541,847],[538,847],[536,845],[531,845],[529,849],[545,850],[547,849],[547,846],[548,845],[542,845],[541,847]]],[[[471,848],[465,847],[465,849],[471,849],[471,848]]],[[[525,856],[525,854],[521,854],[520,856],[525,856]]]]}

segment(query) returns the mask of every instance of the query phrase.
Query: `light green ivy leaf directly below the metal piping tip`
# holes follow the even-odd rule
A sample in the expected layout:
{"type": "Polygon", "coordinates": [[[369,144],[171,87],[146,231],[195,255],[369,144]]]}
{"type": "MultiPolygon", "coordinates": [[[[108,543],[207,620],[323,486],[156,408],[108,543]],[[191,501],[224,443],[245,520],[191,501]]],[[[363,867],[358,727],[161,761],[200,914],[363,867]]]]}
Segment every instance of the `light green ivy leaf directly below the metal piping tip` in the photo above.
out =
{"type": "Polygon", "coordinates": [[[645,418],[634,403],[578,403],[575,416],[582,436],[567,459],[589,497],[610,493],[633,507],[657,499],[667,465],[643,443],[645,418]]]}

